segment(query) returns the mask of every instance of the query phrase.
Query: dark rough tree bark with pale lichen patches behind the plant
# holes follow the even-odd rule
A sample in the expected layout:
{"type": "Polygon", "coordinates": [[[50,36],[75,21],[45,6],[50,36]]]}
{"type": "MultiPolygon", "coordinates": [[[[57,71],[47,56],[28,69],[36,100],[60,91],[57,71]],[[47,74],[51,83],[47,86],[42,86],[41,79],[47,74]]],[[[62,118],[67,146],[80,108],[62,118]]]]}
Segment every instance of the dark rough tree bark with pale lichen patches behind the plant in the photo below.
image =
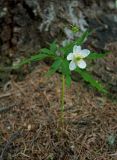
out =
{"type": "Polygon", "coordinates": [[[106,43],[117,41],[115,1],[0,0],[0,67],[38,52],[55,39],[61,44],[72,40],[71,24],[81,32],[96,29],[88,44],[102,51],[106,43]]]}

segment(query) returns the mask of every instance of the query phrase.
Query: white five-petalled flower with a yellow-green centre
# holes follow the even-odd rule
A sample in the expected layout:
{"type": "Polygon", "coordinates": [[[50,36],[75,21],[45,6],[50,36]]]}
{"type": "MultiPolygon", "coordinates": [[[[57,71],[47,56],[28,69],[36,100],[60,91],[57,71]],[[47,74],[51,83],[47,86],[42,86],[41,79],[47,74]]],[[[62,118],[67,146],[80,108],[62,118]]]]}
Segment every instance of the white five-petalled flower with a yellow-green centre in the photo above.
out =
{"type": "Polygon", "coordinates": [[[75,45],[73,47],[73,53],[69,53],[67,60],[71,61],[69,64],[69,69],[73,71],[78,66],[81,69],[86,68],[86,62],[84,58],[90,54],[88,49],[81,49],[81,46],[75,45]]]}

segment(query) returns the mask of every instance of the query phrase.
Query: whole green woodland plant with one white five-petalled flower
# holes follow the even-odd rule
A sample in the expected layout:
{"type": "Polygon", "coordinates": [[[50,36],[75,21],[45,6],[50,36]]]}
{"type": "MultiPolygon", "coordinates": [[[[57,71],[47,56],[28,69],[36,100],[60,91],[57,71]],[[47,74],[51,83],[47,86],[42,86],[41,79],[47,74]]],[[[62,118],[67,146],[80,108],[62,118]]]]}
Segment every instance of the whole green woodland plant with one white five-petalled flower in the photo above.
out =
{"type": "MultiPolygon", "coordinates": [[[[78,29],[72,26],[73,32],[77,32],[78,29]]],[[[71,41],[64,47],[59,46],[55,41],[50,44],[48,48],[42,48],[40,52],[34,56],[22,60],[19,64],[13,65],[13,69],[17,69],[24,64],[28,64],[34,61],[41,61],[45,58],[52,59],[53,63],[50,66],[47,76],[51,77],[56,71],[59,71],[62,76],[61,85],[61,123],[64,124],[64,96],[65,96],[65,84],[67,87],[71,85],[71,72],[77,72],[81,77],[87,81],[92,87],[96,88],[99,92],[107,94],[107,90],[96,81],[93,76],[86,71],[85,59],[97,59],[103,58],[106,54],[92,52],[88,49],[81,49],[82,44],[87,37],[91,34],[88,30],[85,31],[79,38],[71,41]],[[59,46],[59,47],[58,47],[59,46]],[[60,53],[60,54],[58,54],[60,53]],[[62,54],[61,54],[62,53],[62,54]]]]}

